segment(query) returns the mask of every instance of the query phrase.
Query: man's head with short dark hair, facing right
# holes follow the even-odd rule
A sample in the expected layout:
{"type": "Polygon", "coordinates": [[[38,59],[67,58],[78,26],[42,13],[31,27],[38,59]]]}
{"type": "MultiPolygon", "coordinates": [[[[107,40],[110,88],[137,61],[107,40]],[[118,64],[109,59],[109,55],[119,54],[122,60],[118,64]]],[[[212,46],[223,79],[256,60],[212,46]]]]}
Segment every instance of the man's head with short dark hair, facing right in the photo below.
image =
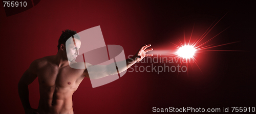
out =
{"type": "Polygon", "coordinates": [[[70,62],[74,62],[76,56],[79,54],[79,48],[81,46],[80,36],[72,30],[64,30],[59,37],[58,51],[63,51],[64,58],[70,62]]]}

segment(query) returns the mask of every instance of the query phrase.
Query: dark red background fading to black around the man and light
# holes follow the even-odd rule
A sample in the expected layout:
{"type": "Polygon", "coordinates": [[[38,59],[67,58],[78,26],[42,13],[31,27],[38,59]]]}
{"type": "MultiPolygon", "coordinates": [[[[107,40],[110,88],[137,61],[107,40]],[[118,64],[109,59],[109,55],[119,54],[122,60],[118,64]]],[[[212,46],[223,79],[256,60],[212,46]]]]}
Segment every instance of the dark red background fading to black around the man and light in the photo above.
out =
{"type": "MultiPolygon", "coordinates": [[[[203,73],[195,67],[186,73],[127,72],[120,79],[92,89],[85,78],[73,95],[75,113],[151,113],[152,107],[192,106],[221,108],[255,105],[254,1],[40,1],[35,7],[6,16],[0,7],[2,113],[24,113],[17,83],[30,63],[57,53],[62,30],[77,32],[100,25],[106,44],[121,45],[125,56],[144,44],[155,50],[173,48],[183,31],[203,33],[228,14],[209,37],[228,30],[212,43],[239,52],[198,54],[203,73]]],[[[138,66],[150,64],[137,64],[138,66]]],[[[29,86],[30,103],[37,108],[37,79],[29,86]]]]}

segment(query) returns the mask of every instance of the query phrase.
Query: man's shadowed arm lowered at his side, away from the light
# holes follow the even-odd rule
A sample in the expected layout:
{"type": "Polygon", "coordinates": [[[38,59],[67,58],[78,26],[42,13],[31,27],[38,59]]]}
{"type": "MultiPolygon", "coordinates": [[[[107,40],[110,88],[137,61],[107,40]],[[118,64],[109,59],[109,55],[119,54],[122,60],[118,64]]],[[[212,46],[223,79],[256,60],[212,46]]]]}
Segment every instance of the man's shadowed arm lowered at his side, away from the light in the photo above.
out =
{"type": "Polygon", "coordinates": [[[36,62],[32,62],[29,69],[25,71],[22,78],[20,78],[18,82],[18,95],[20,100],[22,101],[22,105],[24,107],[25,113],[38,113],[36,109],[31,108],[29,103],[29,88],[28,85],[32,83],[37,75],[35,74],[35,64],[36,62]]]}

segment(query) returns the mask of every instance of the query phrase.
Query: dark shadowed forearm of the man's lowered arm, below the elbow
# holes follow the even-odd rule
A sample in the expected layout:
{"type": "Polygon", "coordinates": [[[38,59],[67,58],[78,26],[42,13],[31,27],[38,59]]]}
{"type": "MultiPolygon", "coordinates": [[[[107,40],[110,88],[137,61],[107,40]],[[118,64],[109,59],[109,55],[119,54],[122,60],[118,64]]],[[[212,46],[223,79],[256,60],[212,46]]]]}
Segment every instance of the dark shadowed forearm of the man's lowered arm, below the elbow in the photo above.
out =
{"type": "Polygon", "coordinates": [[[19,82],[18,83],[18,95],[20,100],[22,101],[23,108],[29,109],[31,108],[29,103],[29,88],[28,85],[19,82]]]}

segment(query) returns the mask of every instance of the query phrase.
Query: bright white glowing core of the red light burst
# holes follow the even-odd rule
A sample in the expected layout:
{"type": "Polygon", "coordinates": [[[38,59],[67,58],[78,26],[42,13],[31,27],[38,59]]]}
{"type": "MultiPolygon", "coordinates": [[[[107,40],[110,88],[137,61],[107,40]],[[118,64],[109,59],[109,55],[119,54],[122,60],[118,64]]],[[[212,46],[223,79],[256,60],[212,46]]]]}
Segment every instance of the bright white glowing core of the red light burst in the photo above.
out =
{"type": "Polygon", "coordinates": [[[184,45],[178,49],[176,54],[185,59],[190,59],[195,55],[196,49],[191,45],[184,45]]]}

